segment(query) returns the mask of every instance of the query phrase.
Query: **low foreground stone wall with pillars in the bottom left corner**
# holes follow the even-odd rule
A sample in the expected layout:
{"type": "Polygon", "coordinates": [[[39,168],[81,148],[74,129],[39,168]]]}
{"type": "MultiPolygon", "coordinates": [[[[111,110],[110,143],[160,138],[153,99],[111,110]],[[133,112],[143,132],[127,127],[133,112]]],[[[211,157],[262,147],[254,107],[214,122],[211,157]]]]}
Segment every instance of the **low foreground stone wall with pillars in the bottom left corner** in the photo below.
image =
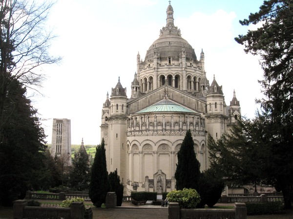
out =
{"type": "Polygon", "coordinates": [[[56,207],[31,207],[27,206],[27,200],[16,200],[13,204],[14,219],[92,219],[91,209],[84,210],[83,202],[73,202],[70,208],[56,207]]]}

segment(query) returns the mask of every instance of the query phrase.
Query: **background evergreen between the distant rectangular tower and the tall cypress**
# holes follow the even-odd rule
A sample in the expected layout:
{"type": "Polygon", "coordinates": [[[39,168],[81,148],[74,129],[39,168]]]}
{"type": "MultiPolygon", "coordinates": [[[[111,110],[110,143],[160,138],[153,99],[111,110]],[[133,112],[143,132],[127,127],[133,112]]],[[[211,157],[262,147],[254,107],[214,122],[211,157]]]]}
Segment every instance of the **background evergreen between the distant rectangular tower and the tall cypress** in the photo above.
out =
{"type": "Polygon", "coordinates": [[[80,148],[74,155],[73,169],[70,172],[71,187],[83,191],[88,189],[90,169],[88,155],[84,148],[80,148]]]}

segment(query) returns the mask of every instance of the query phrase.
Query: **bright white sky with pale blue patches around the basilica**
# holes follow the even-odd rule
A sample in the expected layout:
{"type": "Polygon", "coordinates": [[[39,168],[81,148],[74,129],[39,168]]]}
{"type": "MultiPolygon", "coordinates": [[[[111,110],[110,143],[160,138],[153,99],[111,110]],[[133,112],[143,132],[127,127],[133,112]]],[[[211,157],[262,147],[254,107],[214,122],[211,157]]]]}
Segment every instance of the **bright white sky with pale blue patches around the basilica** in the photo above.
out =
{"type": "MultiPolygon", "coordinates": [[[[199,57],[205,53],[205,69],[223,86],[230,105],[235,89],[242,115],[254,117],[261,97],[262,70],[257,57],[246,54],[234,41],[247,27],[239,20],[258,11],[262,0],[172,0],[174,24],[199,57]]],[[[101,142],[101,111],[106,94],[120,76],[130,97],[136,71],[136,55],[146,50],[166,25],[167,0],[59,0],[52,8],[48,29],[58,38],[51,54],[63,57],[59,65],[45,66],[42,96],[33,106],[43,119],[47,143],[52,141],[53,118],[71,119],[71,142],[101,142]]],[[[253,28],[253,27],[250,27],[253,28]]]]}

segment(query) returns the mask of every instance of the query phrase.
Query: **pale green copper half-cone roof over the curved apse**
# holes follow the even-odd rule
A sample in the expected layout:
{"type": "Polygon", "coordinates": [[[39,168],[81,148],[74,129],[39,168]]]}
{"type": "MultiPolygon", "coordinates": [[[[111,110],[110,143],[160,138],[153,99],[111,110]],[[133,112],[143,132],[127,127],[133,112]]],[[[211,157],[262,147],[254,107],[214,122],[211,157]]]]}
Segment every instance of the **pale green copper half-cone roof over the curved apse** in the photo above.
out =
{"type": "Polygon", "coordinates": [[[170,101],[169,99],[163,99],[151,106],[146,107],[143,110],[140,110],[136,112],[135,114],[140,113],[148,113],[148,112],[190,112],[194,113],[195,111],[189,110],[188,108],[185,108],[173,101],[170,101]]]}

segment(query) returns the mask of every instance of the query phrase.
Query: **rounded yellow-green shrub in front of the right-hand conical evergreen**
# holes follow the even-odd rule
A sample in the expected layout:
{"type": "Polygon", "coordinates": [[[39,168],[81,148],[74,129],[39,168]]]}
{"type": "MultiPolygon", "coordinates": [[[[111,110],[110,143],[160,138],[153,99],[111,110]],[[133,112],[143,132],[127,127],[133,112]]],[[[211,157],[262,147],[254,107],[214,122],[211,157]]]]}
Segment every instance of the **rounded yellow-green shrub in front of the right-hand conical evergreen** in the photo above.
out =
{"type": "Polygon", "coordinates": [[[173,190],[167,195],[169,202],[178,202],[180,208],[196,208],[200,196],[195,189],[173,190]]]}

